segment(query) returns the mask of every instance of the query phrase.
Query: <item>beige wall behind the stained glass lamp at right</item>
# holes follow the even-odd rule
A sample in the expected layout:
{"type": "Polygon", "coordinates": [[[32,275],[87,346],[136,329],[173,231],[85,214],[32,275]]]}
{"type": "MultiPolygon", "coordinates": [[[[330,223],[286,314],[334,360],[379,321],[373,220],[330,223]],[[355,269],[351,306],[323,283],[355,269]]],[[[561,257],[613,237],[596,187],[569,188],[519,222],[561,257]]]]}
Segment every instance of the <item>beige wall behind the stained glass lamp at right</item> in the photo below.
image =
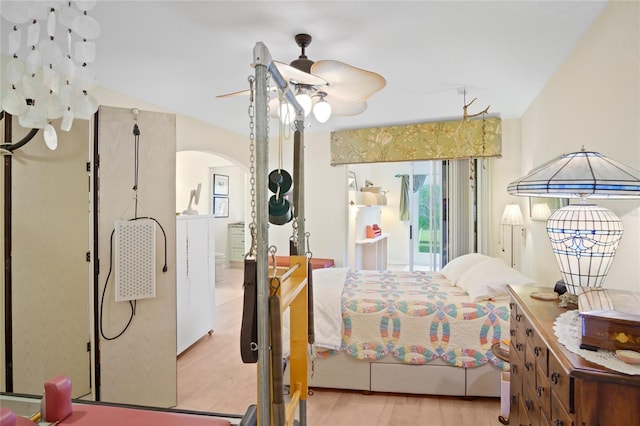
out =
{"type": "MultiPolygon", "coordinates": [[[[611,1],[522,117],[520,175],[562,153],[598,151],[640,169],[640,3],[611,1]]],[[[625,234],[605,285],[640,290],[640,202],[598,201],[625,234]]],[[[529,223],[523,267],[561,279],[543,222],[529,223]]]]}

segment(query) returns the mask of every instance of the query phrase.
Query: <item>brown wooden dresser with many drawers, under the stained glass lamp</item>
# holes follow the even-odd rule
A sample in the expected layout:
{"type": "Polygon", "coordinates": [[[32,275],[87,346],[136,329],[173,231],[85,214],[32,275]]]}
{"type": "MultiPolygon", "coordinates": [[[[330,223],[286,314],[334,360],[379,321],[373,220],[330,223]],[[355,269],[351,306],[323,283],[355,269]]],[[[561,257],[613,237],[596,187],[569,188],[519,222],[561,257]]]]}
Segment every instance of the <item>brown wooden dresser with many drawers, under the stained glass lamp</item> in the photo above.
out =
{"type": "Polygon", "coordinates": [[[640,376],[591,363],[553,331],[558,301],[533,299],[551,288],[510,286],[510,425],[640,425],[640,376]]]}

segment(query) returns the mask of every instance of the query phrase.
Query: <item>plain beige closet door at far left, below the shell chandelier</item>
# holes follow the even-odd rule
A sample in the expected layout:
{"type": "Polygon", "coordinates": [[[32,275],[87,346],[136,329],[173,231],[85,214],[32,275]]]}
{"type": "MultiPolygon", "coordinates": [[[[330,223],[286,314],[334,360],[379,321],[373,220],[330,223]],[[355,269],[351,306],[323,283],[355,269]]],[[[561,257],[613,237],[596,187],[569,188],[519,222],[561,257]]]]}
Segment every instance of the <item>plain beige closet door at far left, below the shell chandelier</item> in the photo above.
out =
{"type": "MultiPolygon", "coordinates": [[[[26,134],[17,122],[14,117],[14,141],[26,134]]],[[[59,128],[59,121],[54,125],[59,128]]],[[[57,149],[50,151],[40,131],[8,157],[13,391],[40,395],[46,380],[65,374],[73,383],[72,396],[79,397],[91,386],[89,122],[75,120],[58,138],[57,149]]]]}

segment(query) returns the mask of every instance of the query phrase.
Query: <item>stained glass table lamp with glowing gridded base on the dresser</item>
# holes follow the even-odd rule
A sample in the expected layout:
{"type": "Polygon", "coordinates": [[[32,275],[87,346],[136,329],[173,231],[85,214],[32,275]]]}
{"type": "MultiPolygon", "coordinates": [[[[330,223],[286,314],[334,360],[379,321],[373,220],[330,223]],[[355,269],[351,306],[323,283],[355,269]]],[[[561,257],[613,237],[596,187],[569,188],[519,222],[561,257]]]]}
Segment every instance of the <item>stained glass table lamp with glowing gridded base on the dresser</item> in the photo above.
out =
{"type": "Polygon", "coordinates": [[[587,199],[640,198],[640,171],[597,152],[563,154],[507,187],[511,195],[578,198],[547,220],[563,281],[569,293],[602,287],[622,237],[622,221],[587,199]]]}

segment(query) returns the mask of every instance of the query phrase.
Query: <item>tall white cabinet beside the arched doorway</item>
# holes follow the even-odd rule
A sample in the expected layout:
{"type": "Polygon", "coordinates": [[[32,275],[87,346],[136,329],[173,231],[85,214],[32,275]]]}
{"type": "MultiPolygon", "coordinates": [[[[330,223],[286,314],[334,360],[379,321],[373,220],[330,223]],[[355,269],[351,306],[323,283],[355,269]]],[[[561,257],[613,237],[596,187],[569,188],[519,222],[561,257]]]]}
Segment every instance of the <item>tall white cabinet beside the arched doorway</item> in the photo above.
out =
{"type": "Polygon", "coordinates": [[[177,352],[213,331],[215,324],[213,216],[176,218],[177,352]]]}

